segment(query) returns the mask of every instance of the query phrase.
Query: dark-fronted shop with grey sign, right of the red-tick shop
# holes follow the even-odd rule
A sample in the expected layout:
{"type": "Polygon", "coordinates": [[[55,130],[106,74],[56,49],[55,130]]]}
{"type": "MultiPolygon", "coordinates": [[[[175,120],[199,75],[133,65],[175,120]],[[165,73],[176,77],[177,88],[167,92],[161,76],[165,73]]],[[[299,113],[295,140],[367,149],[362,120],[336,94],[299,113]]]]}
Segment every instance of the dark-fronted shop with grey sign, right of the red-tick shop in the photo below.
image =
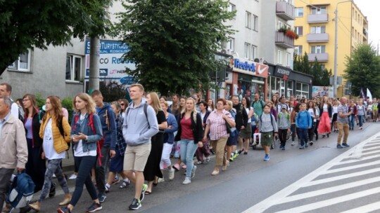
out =
{"type": "Polygon", "coordinates": [[[267,99],[277,92],[279,96],[289,98],[291,95],[300,97],[311,97],[312,76],[294,71],[289,67],[269,64],[269,77],[267,87],[267,99]]]}

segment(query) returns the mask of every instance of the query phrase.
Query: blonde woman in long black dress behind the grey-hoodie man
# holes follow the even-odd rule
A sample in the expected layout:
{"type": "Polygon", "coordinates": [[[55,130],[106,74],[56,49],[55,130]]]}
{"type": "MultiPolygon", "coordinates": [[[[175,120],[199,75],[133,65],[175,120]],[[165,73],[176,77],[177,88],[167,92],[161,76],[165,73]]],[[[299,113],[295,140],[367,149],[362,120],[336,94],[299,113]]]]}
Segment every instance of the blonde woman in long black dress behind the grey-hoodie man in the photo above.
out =
{"type": "Polygon", "coordinates": [[[167,129],[167,121],[156,92],[149,92],[146,95],[146,103],[151,105],[156,112],[158,129],[160,130],[160,132],[151,138],[151,153],[149,153],[144,168],[144,178],[148,181],[148,188],[146,188],[145,194],[149,195],[152,193],[152,186],[157,186],[158,184],[157,177],[163,178],[160,162],[163,154],[163,130],[167,129]]]}

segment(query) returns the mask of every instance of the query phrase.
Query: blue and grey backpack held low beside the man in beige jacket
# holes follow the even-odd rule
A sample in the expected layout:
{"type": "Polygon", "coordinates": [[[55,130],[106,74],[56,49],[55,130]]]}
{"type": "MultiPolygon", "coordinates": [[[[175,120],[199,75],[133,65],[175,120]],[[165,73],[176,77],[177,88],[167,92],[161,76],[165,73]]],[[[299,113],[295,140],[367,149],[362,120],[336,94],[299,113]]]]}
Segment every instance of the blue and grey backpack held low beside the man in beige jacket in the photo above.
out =
{"type": "Polygon", "coordinates": [[[6,202],[14,208],[25,207],[32,200],[34,194],[34,182],[25,172],[18,174],[8,191],[6,202]]]}

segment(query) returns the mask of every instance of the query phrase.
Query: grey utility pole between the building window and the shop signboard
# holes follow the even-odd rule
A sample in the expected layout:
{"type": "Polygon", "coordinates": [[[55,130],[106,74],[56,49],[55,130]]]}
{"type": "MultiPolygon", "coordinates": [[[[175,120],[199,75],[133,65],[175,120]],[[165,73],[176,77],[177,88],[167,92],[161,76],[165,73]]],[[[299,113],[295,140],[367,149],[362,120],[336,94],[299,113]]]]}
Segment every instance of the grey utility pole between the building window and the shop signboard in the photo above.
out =
{"type": "Polygon", "coordinates": [[[99,90],[99,57],[100,40],[98,37],[91,37],[89,58],[89,91],[99,90]]]}

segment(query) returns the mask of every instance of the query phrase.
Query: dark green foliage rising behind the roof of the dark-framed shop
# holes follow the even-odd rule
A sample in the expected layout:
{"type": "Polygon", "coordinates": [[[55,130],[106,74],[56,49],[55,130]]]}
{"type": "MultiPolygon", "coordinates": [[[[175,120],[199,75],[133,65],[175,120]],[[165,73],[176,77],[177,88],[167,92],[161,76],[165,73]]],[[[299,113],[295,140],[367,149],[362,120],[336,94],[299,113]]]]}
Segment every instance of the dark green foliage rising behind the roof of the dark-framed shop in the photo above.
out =
{"type": "Polygon", "coordinates": [[[318,62],[317,57],[314,62],[310,63],[307,53],[304,55],[294,54],[293,69],[313,76],[312,85],[327,86],[330,84],[331,69],[330,71],[322,69],[322,64],[318,62]]]}

